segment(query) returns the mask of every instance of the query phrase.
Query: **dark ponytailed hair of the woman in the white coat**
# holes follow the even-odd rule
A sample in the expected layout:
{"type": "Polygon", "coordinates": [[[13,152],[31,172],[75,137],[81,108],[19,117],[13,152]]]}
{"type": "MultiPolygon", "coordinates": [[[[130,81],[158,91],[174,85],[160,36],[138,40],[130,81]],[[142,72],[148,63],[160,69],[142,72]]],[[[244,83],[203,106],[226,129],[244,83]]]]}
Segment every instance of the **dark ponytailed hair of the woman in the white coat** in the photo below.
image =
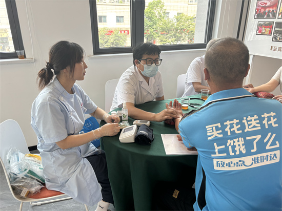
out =
{"type": "Polygon", "coordinates": [[[62,40],[54,44],[49,52],[49,62],[37,74],[39,89],[46,87],[54,74],[58,75],[61,70],[64,70],[68,66],[70,66],[70,74],[73,75],[75,64],[82,61],[84,54],[83,48],[76,43],[62,40]]]}

